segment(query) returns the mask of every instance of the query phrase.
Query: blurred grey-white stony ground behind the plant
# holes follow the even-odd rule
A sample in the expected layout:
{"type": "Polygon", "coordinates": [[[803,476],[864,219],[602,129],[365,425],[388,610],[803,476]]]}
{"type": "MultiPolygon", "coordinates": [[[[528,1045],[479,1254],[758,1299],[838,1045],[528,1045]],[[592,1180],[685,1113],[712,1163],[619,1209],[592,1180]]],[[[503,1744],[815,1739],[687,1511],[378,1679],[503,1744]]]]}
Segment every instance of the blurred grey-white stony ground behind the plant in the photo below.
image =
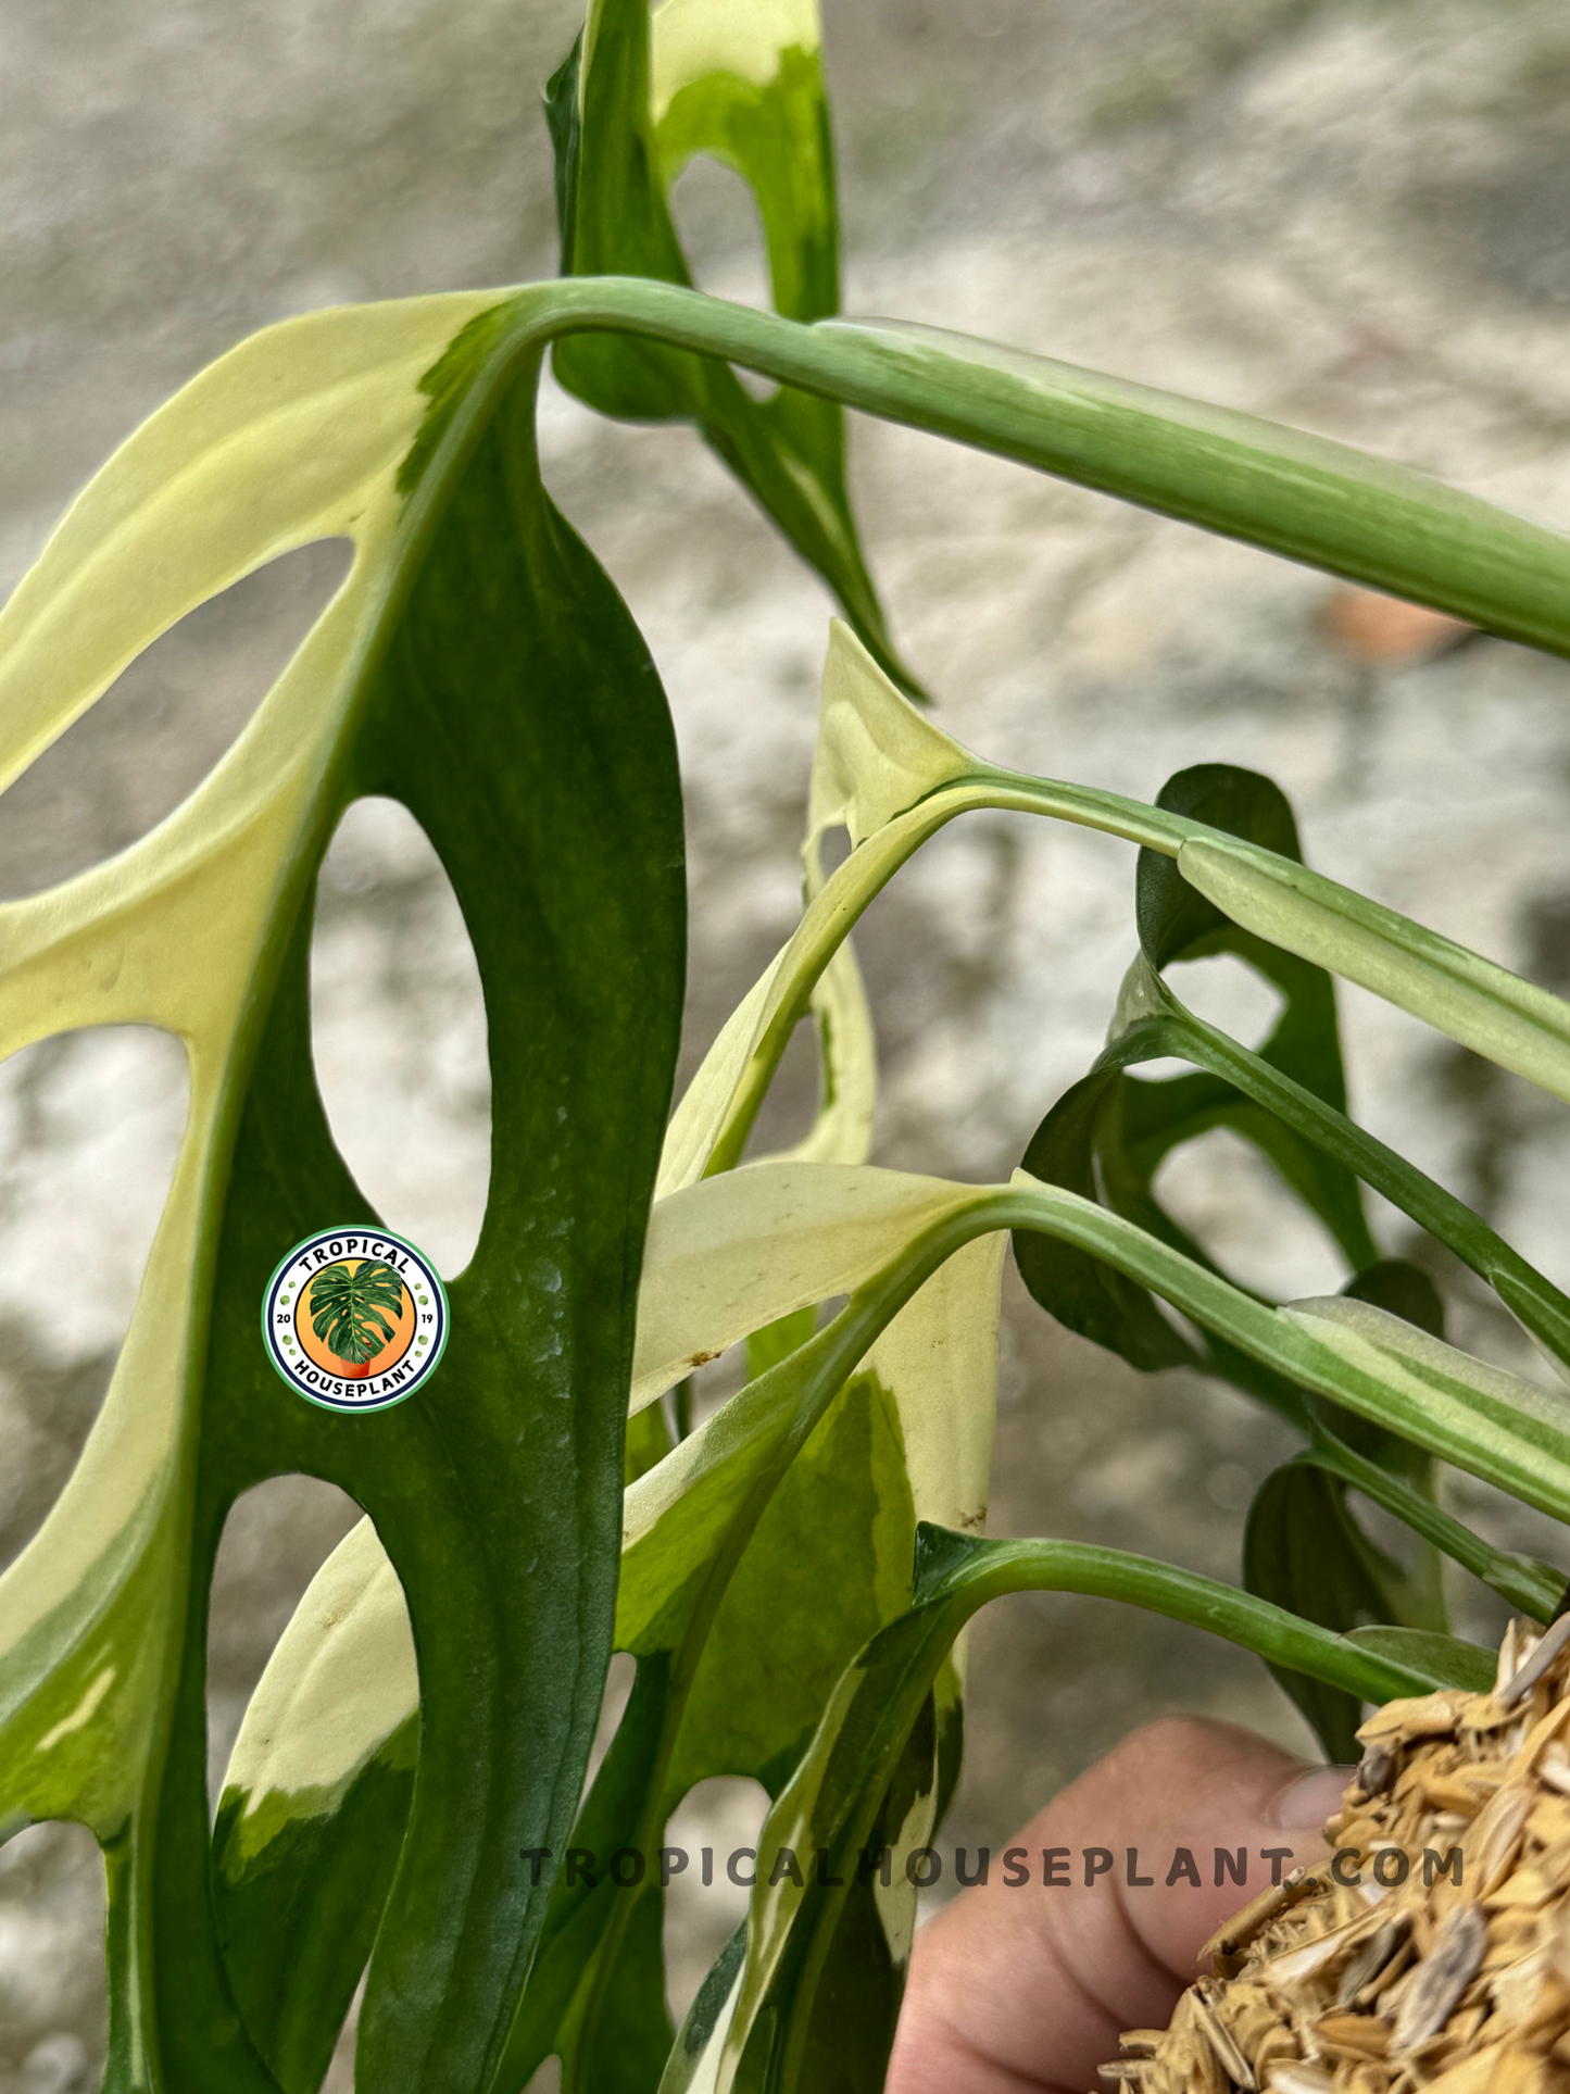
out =
{"type": "MultiPolygon", "coordinates": [[[[921,318],[1321,429],[1549,521],[1570,517],[1570,17],[1534,0],[825,0],[846,310],[921,318]]],[[[548,274],[538,92],[571,0],[8,0],[0,15],[0,593],[105,452],[285,314],[548,274]]],[[[705,287],[762,295],[739,184],[678,211],[705,287]]],[[[546,394],[557,500],[643,624],[689,781],[687,1070],[789,932],[829,603],[682,429],[546,394]]],[[[1409,628],[1264,555],[898,429],[854,486],[894,630],[938,718],[990,758],[1149,798],[1191,762],[1269,771],[1340,879],[1570,988],[1570,668],[1409,628]]],[[[121,848],[222,754],[341,572],[293,555],[186,620],[6,796],[0,894],[121,848]]],[[[1095,1055],[1132,953],[1132,854],[969,817],[860,936],[881,1051],[877,1160],[1007,1175],[1095,1055]]],[[[1225,963],[1179,984],[1258,1039],[1225,963]]],[[[1564,1279],[1570,1120],[1356,993],[1354,1110],[1564,1279]]],[[[322,879],[322,1089],[396,1227],[456,1271],[486,1183],[479,986],[444,875],[389,806],[322,879]],[[373,1081],[366,1083],[366,1076],[373,1081]],[[375,1118],[366,1099],[375,1093],[375,1118]],[[387,1145],[394,1114],[402,1133],[387,1145]],[[391,1154],[389,1154],[391,1148],[391,1154]]],[[[810,1112],[791,1051],[760,1139],[810,1112]]],[[[0,1560],[36,1531],[126,1330],[184,1110],[170,1041],[48,1041],[0,1070],[0,1560]]],[[[1162,1177],[1233,1271],[1344,1277],[1231,1137],[1162,1177]]],[[[1388,1252],[1407,1225],[1375,1221],[1388,1252]]],[[[1451,1334],[1522,1359],[1442,1273],[1451,1334]]],[[[1287,1445],[1241,1397],[1139,1378],[1005,1284],[992,1529],[1237,1573],[1287,1445]]],[[[1555,1554],[1457,1478],[1457,1510],[1555,1554]]],[[[214,1769],[299,1591],[352,1520],[283,1478],[245,1499],[211,1629],[214,1769]]],[[[1562,1554],[1562,1552],[1560,1552],[1562,1554]]],[[[1476,1591],[1461,1625],[1497,1629],[1476,1591]]],[[[1137,1721],[1206,1711],[1310,1751],[1252,1658],[1097,1602],[1028,1598],[971,1646],[948,1836],[999,1845],[1137,1721]]],[[[743,1839],[708,1784],[674,1839],[743,1839]]],[[[691,1878],[687,1878],[691,1883],[691,1878]]],[[[678,1883],[678,1891],[687,1891],[678,1883]]],[[[942,1887],[940,1893],[942,1895],[942,1887]]],[[[100,1870],[86,1834],[0,1853],[0,2094],[96,2086],[100,1870]]],[[[685,2006],[735,1924],[672,1908],[685,2006]]],[[[347,2086],[347,2044],[333,2086],[347,2086]]]]}

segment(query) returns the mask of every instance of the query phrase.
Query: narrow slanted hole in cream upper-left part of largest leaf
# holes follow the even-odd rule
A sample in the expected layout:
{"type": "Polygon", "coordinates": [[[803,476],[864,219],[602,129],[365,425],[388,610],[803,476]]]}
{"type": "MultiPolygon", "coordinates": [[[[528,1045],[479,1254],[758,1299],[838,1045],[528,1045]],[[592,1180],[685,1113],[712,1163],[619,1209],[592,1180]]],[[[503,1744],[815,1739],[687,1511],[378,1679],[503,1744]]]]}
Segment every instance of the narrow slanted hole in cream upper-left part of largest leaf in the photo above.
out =
{"type": "Polygon", "coordinates": [[[304,544],[188,611],[8,787],[0,898],[38,894],[136,844],[239,739],[350,570],[304,544]]]}

